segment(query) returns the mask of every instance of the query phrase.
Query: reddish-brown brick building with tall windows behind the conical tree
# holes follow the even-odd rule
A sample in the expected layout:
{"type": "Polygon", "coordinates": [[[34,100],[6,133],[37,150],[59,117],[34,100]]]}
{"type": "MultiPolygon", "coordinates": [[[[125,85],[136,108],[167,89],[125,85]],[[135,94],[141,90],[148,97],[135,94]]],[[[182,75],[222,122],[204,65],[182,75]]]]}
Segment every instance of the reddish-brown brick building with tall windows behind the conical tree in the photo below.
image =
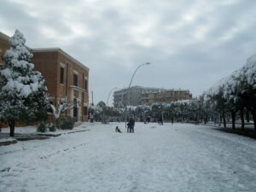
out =
{"type": "MultiPolygon", "coordinates": [[[[9,37],[0,32],[0,63],[5,50],[9,49],[9,37]]],[[[68,101],[74,108],[65,114],[78,121],[87,121],[89,106],[89,68],[59,48],[30,49],[35,70],[42,73],[48,89],[49,100],[68,101]]],[[[4,63],[3,63],[4,64],[4,63]]]]}

